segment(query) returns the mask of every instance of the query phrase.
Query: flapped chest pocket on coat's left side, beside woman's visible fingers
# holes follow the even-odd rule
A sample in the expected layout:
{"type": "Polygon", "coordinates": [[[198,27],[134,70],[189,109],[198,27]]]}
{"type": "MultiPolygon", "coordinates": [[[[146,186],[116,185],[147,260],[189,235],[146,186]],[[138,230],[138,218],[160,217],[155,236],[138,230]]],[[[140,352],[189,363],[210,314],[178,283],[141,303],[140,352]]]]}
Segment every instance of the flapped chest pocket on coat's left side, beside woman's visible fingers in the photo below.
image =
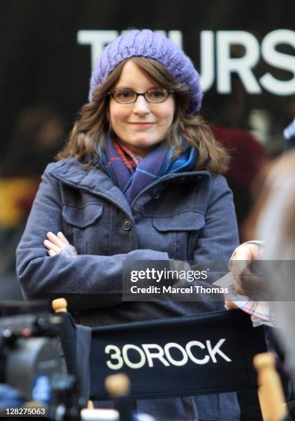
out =
{"type": "Polygon", "coordinates": [[[65,235],[75,246],[78,255],[85,249],[85,233],[94,230],[94,226],[102,215],[103,206],[100,204],[86,204],[83,207],[63,205],[63,225],[65,235]]]}

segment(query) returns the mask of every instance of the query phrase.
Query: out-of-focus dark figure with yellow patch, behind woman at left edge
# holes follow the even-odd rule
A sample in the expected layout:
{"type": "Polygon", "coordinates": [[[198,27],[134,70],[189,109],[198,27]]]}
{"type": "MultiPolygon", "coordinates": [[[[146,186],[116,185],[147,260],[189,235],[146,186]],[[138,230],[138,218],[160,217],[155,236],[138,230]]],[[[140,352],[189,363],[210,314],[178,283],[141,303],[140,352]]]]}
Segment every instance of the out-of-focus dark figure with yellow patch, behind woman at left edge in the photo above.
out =
{"type": "Polygon", "coordinates": [[[28,107],[17,118],[1,162],[0,299],[22,299],[15,272],[15,249],[41,182],[65,135],[65,122],[46,106],[28,107]]]}

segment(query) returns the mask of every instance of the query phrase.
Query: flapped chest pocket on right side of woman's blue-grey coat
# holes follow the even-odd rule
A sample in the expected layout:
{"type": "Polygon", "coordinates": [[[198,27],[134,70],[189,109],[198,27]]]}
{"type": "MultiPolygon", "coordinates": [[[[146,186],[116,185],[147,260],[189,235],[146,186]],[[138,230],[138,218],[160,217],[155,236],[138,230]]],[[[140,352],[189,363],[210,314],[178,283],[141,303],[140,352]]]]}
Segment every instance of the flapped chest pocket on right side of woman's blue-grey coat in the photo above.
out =
{"type": "Polygon", "coordinates": [[[171,259],[192,260],[205,217],[199,212],[183,212],[167,217],[153,217],[153,227],[171,259]],[[160,239],[161,238],[161,239],[160,239]]]}

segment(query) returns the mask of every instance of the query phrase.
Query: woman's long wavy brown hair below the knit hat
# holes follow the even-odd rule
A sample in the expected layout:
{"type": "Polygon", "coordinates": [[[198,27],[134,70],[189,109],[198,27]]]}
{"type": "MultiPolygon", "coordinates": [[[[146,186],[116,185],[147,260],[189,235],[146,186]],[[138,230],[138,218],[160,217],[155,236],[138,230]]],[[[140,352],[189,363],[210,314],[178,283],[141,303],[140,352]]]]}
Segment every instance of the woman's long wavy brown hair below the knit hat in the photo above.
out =
{"type": "Polygon", "coordinates": [[[175,115],[163,139],[167,146],[174,147],[173,159],[182,153],[182,146],[179,143],[179,136],[181,136],[185,142],[197,149],[198,161],[195,170],[224,173],[230,160],[228,153],[215,140],[204,119],[197,113],[188,112],[190,103],[188,87],[178,83],[168,69],[158,61],[146,57],[132,57],[122,61],[105,82],[95,89],[91,102],[81,108],[74,128],[69,133],[69,139],[65,147],[56,155],[56,160],[77,158],[88,167],[93,164],[97,155],[101,156],[109,133],[108,92],[116,87],[122,68],[128,60],[133,61],[147,78],[153,80],[155,85],[174,92],[175,115]]]}

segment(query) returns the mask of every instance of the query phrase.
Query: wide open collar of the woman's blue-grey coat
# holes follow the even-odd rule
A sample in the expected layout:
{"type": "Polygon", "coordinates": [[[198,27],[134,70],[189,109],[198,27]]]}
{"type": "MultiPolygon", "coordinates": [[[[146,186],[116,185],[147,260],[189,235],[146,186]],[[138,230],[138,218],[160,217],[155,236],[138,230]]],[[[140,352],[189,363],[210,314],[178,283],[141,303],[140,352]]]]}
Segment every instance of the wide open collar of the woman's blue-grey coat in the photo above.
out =
{"type": "MultiPolygon", "coordinates": [[[[111,180],[109,175],[96,167],[85,169],[75,158],[68,158],[56,162],[54,167],[50,170],[50,175],[64,184],[74,188],[80,188],[91,194],[105,197],[117,206],[120,206],[127,214],[131,215],[130,206],[120,188],[113,183],[113,180],[111,180]]],[[[150,189],[155,188],[155,186],[158,187],[167,180],[185,184],[187,182],[192,182],[193,180],[199,181],[210,177],[211,174],[209,171],[189,171],[186,173],[167,174],[160,179],[155,180],[146,187],[144,191],[149,191],[150,189]]],[[[140,195],[142,195],[144,191],[142,191],[140,195]]]]}

